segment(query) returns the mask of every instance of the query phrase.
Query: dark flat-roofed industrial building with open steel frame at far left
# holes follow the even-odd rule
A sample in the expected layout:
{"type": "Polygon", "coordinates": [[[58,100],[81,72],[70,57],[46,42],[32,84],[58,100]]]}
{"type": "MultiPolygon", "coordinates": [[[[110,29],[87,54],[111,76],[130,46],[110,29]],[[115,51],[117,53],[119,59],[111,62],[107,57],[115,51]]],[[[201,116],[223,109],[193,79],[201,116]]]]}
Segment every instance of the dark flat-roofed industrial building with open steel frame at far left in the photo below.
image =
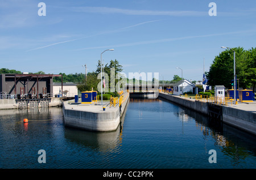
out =
{"type": "MultiPolygon", "coordinates": [[[[53,95],[53,74],[1,74],[0,98],[32,99],[53,95]]],[[[62,84],[62,83],[61,83],[62,84]]],[[[61,86],[62,92],[62,86],[61,86]]]]}

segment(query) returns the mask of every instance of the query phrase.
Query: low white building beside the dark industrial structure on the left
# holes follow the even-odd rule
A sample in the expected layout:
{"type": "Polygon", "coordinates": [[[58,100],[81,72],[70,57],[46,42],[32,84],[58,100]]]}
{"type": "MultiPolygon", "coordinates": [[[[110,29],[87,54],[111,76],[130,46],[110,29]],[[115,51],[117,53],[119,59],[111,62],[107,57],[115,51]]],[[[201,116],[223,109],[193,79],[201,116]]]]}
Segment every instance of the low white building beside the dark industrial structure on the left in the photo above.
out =
{"type": "MultiPolygon", "coordinates": [[[[53,83],[53,97],[61,96],[61,83],[53,83]]],[[[63,83],[63,97],[75,97],[78,95],[75,83],[63,83]]]]}

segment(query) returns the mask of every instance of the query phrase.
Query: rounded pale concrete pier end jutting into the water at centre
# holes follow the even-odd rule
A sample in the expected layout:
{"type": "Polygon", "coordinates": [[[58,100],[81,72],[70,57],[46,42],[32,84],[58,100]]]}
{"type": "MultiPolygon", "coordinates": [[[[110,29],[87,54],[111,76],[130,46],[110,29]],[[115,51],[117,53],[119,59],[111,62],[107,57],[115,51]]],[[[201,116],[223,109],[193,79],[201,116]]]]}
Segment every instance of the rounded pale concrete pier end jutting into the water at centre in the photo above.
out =
{"type": "Polygon", "coordinates": [[[121,106],[114,107],[109,102],[104,105],[63,102],[64,125],[90,131],[115,131],[128,102],[129,93],[124,93],[121,106]]]}

